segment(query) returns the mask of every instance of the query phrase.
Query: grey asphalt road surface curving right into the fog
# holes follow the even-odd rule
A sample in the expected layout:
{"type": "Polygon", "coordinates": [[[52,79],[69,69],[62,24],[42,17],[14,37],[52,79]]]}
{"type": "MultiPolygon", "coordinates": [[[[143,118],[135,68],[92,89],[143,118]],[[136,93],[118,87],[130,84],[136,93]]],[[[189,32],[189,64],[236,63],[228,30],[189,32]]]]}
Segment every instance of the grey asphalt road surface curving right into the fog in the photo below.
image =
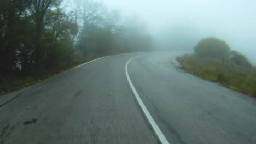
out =
{"type": "Polygon", "coordinates": [[[256,99],[179,69],[178,52],[109,56],[18,92],[0,107],[0,143],[256,143],[256,99]]]}

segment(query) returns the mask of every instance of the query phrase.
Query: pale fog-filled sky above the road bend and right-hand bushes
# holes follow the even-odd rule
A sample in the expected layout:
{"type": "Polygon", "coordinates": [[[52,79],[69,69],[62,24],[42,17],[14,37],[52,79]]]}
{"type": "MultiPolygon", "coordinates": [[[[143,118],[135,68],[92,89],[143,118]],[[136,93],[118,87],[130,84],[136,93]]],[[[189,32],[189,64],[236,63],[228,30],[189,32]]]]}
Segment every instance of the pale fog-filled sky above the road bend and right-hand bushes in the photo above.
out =
{"type": "Polygon", "coordinates": [[[198,40],[217,37],[256,63],[256,1],[103,0],[126,16],[136,15],[158,49],[193,50],[198,40]]]}

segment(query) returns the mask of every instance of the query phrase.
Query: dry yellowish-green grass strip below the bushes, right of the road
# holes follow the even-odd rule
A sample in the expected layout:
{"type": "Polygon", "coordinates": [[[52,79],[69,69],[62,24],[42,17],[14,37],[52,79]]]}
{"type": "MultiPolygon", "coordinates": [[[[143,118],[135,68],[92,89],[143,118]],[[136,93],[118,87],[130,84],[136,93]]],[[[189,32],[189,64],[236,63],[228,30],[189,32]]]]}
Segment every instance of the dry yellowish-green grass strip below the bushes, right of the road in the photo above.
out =
{"type": "Polygon", "coordinates": [[[256,97],[255,67],[239,67],[230,61],[223,65],[220,59],[201,58],[194,54],[179,56],[177,61],[191,74],[256,97]]]}

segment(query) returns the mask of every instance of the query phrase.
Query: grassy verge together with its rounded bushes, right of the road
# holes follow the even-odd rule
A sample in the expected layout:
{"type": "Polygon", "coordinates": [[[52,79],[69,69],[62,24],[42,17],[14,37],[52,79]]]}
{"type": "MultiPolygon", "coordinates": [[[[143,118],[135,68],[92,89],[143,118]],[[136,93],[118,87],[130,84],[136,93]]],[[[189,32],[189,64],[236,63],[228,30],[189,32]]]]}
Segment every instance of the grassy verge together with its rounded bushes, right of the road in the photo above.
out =
{"type": "Polygon", "coordinates": [[[256,97],[256,67],[245,55],[232,51],[223,40],[202,39],[194,47],[194,53],[176,60],[191,74],[256,97]]]}

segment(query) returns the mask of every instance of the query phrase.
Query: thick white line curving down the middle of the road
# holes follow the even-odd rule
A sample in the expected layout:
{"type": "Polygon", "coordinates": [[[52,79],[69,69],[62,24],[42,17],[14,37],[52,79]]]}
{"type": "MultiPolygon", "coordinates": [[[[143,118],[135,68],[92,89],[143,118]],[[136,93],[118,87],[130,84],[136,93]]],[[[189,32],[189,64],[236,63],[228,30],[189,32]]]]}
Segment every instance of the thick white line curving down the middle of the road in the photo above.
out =
{"type": "Polygon", "coordinates": [[[152,128],[154,129],[156,135],[158,136],[158,139],[160,140],[160,142],[162,144],[170,144],[166,137],[164,136],[164,134],[162,134],[162,131],[159,129],[158,125],[155,123],[153,117],[150,115],[147,107],[144,105],[143,101],[141,100],[141,98],[139,97],[138,95],[138,92],[136,91],[135,87],[133,86],[132,82],[131,82],[131,79],[130,79],[130,76],[128,74],[128,70],[127,70],[127,65],[129,64],[129,62],[135,57],[132,57],[125,65],[125,73],[126,73],[126,77],[127,77],[127,80],[131,86],[131,89],[132,89],[132,92],[133,94],[135,95],[138,103],[139,103],[139,106],[141,106],[141,109],[142,111],[144,112],[144,114],[146,115],[149,123],[151,124],[152,128]]]}

